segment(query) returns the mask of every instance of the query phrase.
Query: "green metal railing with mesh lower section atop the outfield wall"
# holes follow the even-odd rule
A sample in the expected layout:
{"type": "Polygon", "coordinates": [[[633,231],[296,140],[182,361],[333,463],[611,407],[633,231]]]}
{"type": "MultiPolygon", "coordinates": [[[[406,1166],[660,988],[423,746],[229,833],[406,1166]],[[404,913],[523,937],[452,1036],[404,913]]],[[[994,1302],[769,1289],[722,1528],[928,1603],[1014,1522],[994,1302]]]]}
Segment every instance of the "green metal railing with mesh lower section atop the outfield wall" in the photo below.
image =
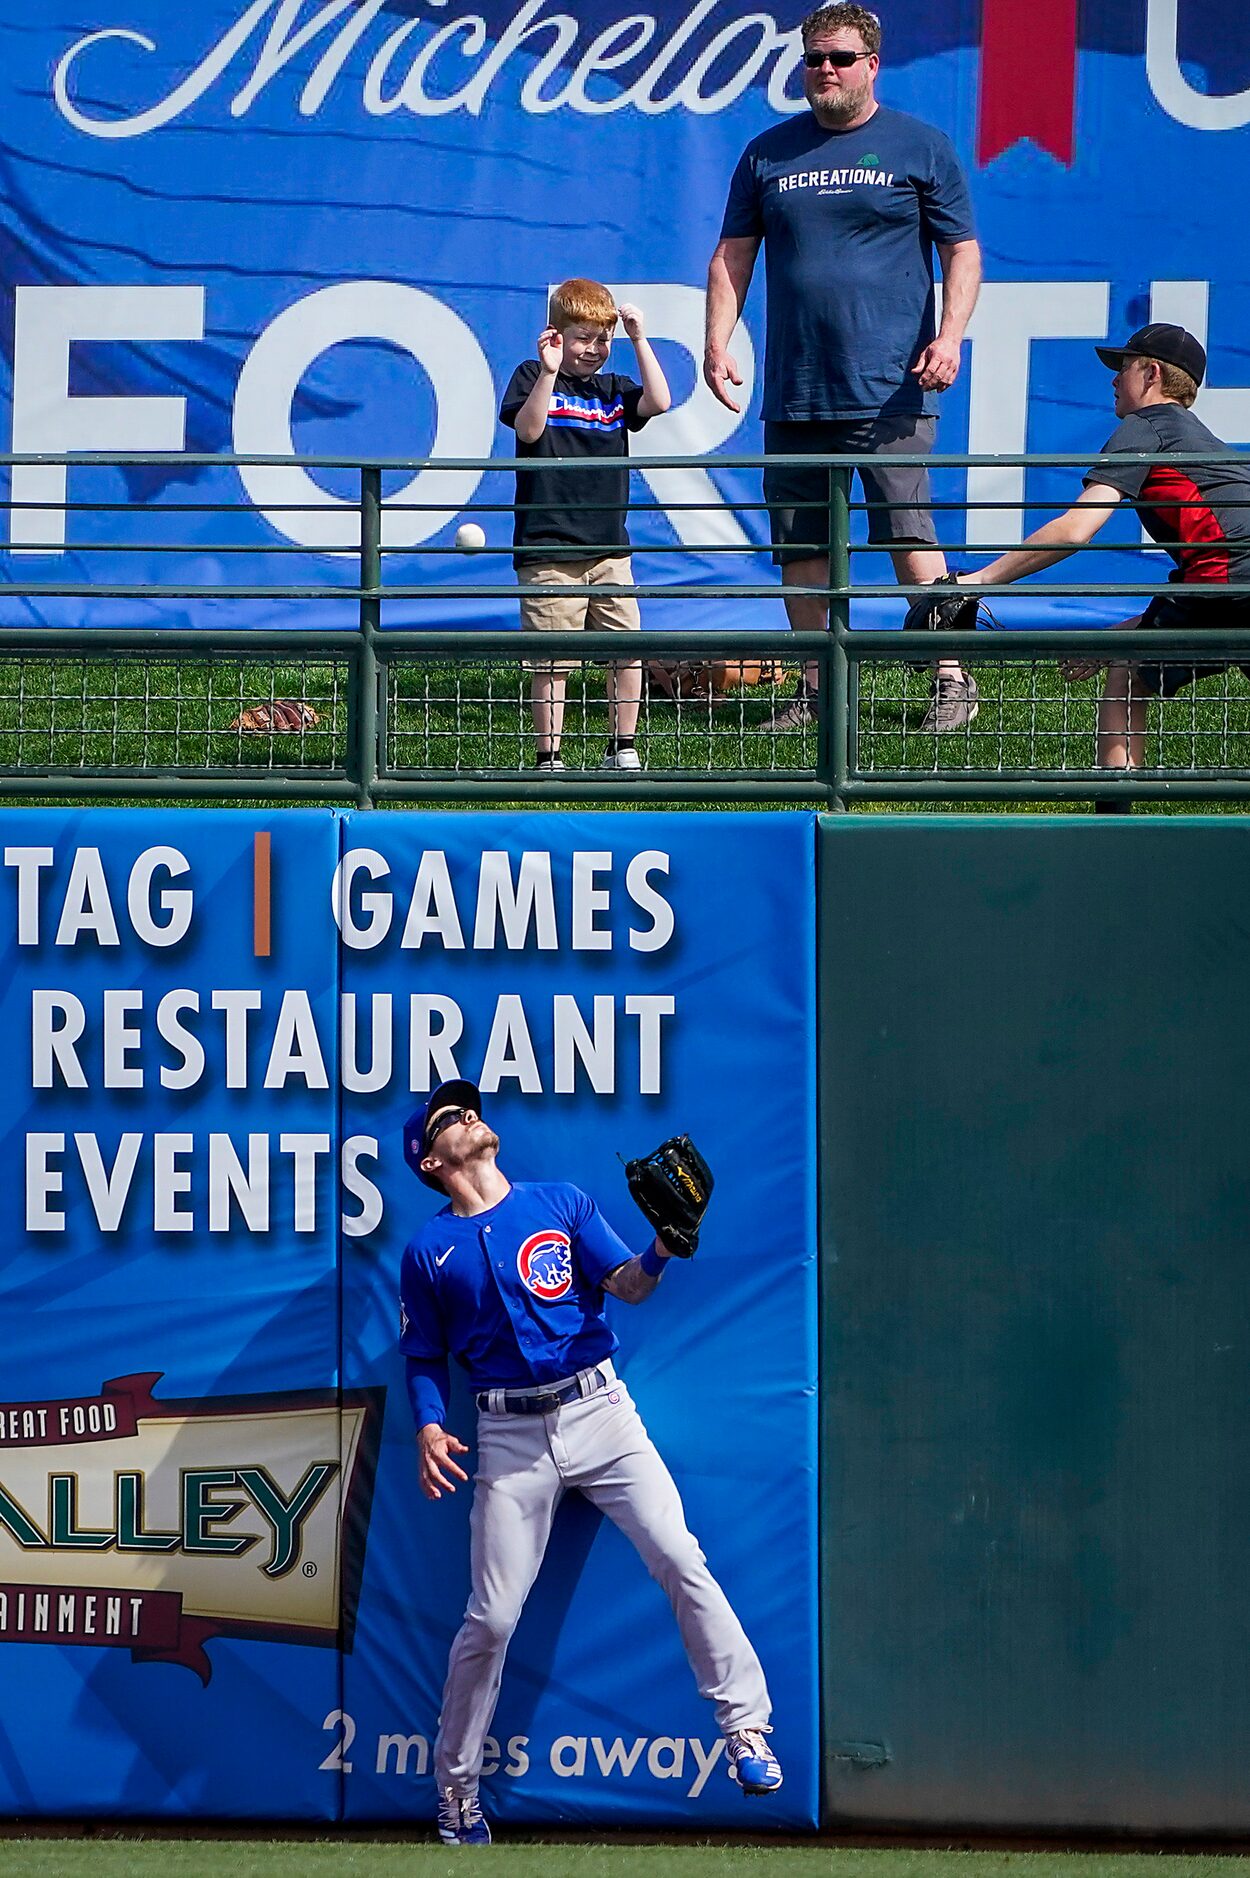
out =
{"type": "MultiPolygon", "coordinates": [[[[908,458],[897,458],[908,462],[908,458]]],[[[922,458],[916,458],[922,460],[922,458]]],[[[1186,462],[1188,458],[1169,458],[1186,462]]],[[[160,462],[161,456],[39,456],[4,458],[13,466],[64,464],[75,473],[160,462]]],[[[291,466],[293,458],[178,456],[178,470],[291,466]]],[[[762,470],[762,458],[717,458],[715,468],[762,470]]],[[[794,462],[794,458],[790,460],[794,462]]],[[[811,466],[811,458],[803,458],[811,466]]],[[[974,456],[931,458],[933,468],[987,468],[974,456]]],[[[1027,468],[1079,468],[1089,458],[995,458],[1027,468]]],[[[595,768],[606,734],[606,708],[593,663],[621,663],[619,633],[544,633],[552,659],[580,661],[571,676],[571,716],[563,774],[535,774],[527,714],[535,637],[516,631],[419,631],[387,623],[387,608],[404,599],[471,603],[514,599],[511,580],[389,582],[387,560],[402,554],[447,556],[443,545],[389,548],[383,543],[387,471],[426,468],[420,462],[343,464],[302,458],[304,470],[351,468],[357,477],[358,550],[353,578],[321,584],[221,584],[160,580],[21,578],[11,558],[11,599],[135,599],[135,601],[282,601],[298,612],[308,603],[342,603],[353,623],[336,627],[81,627],[0,625],[0,794],[15,798],[133,798],[133,800],[321,800],[379,806],[390,802],[818,802],[848,809],[861,802],[1000,802],[1064,804],[1094,796],[1250,798],[1250,633],[1229,629],[1151,633],[1156,659],[1220,665],[1207,687],[1156,706],[1152,757],[1132,776],[1094,766],[1094,702],[1060,684],[1057,657],[1090,654],[1141,659],[1139,633],[1105,629],[952,633],[918,640],[897,631],[852,629],[852,603],[923,592],[895,582],[854,580],[850,518],[854,458],[820,458],[828,470],[828,498],[813,505],[813,552],[831,543],[830,578],[816,593],[828,601],[828,633],[785,629],[646,627],[629,637],[629,657],[664,672],[708,674],[719,661],[715,687],[696,682],[668,697],[655,684],[644,695],[640,776],[595,768]],[[826,533],[828,530],[828,533],[826,533]],[[965,731],[935,738],[918,727],[929,672],[937,655],[957,657],[982,682],[982,712],[965,731]],[[756,667],[764,667],[764,682],[756,667]],[[790,695],[790,678],[811,665],[818,672],[813,723],[775,729],[770,717],[790,695]],[[770,676],[771,669],[771,676],[770,676]],[[741,682],[734,680],[734,674],[741,682]],[[257,708],[297,700],[308,723],[261,729],[248,723],[257,708]],[[233,714],[227,723],[227,714],[233,714]],[[584,768],[576,768],[576,759],[584,768]]],[[[516,468],[494,460],[439,462],[439,470],[497,471],[516,468]]],[[[544,464],[578,473],[578,464],[544,464]]],[[[708,466],[700,466],[708,468],[708,466]]],[[[648,477],[689,470],[685,458],[651,458],[648,477]]],[[[17,503],[49,511],[53,503],[17,503]]],[[[96,516],[139,513],[133,503],[68,501],[71,513],[96,516]]],[[[238,513],[242,503],[169,503],[154,515],[238,513]]],[[[402,503],[439,509],[445,503],[402,503]]],[[[666,507],[659,501],[638,507],[666,507]]],[[[696,507],[685,503],[683,507],[696,507]]],[[[762,507],[756,503],[755,507],[762,507]]],[[[937,505],[953,507],[953,505],[937,505]]],[[[1015,509],[1015,501],[993,507],[1015,509]]],[[[505,501],[477,503],[490,515],[511,511],[505,501]]],[[[349,513],[349,511],[347,511],[349,513]]],[[[1002,543],[1008,546],[1012,543],[1002,543]]],[[[274,556],[313,554],[300,546],[240,546],[221,543],[73,543],[75,554],[169,552],[274,556]]],[[[950,548],[952,545],[948,545],[950,548]]],[[[1122,545],[1119,545],[1122,548],[1122,545]]],[[[464,550],[480,554],[482,550],[464,550]]],[[[501,552],[501,550],[492,550],[501,552]]],[[[709,543],[648,545],[648,554],[732,552],[709,543]]],[[[856,545],[854,554],[884,548],[856,545]]],[[[974,552],[995,552],[982,546],[974,552]]],[[[1090,552],[1117,552],[1102,543],[1090,552]]],[[[342,565],[342,556],[338,558],[342,565]]],[[[282,565],[282,562],[278,562],[282,565]]],[[[422,565],[419,562],[419,565],[422,565]]],[[[548,590],[531,590],[548,592],[548,590]]],[[[589,588],[561,588],[587,593],[589,588]]],[[[604,592],[599,588],[597,592],[604,592]]],[[[644,601],[773,601],[771,580],[644,582],[627,590],[644,601]]],[[[1006,590],[982,588],[980,595],[1006,590]]],[[[1019,590],[1015,590],[1019,592],[1019,590]]],[[[1051,595],[1141,595],[1117,584],[1047,584],[1051,595]]],[[[1151,590],[1152,592],[1152,590],[1151,590]]],[[[1224,592],[1244,595],[1246,586],[1224,592]]],[[[1130,610],[1139,610],[1137,599],[1130,610]]]]}

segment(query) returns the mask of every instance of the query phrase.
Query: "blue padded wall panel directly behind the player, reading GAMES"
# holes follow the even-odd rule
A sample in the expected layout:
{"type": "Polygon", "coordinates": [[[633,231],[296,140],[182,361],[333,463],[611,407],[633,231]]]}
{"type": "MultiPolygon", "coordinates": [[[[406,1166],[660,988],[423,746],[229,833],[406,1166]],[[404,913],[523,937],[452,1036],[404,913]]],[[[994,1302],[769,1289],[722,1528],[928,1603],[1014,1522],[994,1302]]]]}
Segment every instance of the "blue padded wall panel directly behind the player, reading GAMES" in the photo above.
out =
{"type": "MultiPolygon", "coordinates": [[[[811,868],[805,813],[347,817],[343,1131],[390,1144],[381,1219],[343,1260],[345,1382],[387,1388],[336,1724],[349,1820],[432,1812],[469,1589],[465,1493],[420,1497],[396,1356],[400,1253],[439,1198],[394,1144],[409,1106],[452,1074],[479,1082],[511,1179],[572,1181],[631,1251],[649,1230],[617,1155],[689,1131],[713,1164],[696,1258],[642,1307],[610,1311],[617,1369],[762,1658],[785,1765],[781,1793],[743,1799],[663,1591],[571,1495],[507,1656],[488,1812],[751,1831],[816,1820],[811,868]],[[394,1052],[385,1082],[379,1052],[394,1052]],[[755,1465],[764,1448],[781,1469],[755,1465]]],[[[473,1442],[473,1424],[458,1386],[449,1425],[473,1442]]]]}

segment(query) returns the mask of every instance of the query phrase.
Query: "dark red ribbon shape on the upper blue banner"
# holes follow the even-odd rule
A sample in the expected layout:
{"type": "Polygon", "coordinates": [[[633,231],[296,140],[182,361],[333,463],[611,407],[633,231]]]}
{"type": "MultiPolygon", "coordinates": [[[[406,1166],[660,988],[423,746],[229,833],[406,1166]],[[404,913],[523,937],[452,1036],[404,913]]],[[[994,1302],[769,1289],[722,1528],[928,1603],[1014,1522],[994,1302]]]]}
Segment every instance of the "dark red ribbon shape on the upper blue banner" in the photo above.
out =
{"type": "Polygon", "coordinates": [[[983,0],[976,160],[1029,137],[1072,163],[1077,0],[983,0]]]}

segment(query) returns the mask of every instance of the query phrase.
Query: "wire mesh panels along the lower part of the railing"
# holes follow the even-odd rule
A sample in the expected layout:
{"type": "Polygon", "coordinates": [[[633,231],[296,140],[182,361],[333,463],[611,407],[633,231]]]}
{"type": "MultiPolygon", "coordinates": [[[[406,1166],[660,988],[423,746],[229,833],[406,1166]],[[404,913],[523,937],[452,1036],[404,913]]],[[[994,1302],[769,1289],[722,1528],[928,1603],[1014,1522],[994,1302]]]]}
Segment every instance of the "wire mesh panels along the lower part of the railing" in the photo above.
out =
{"type": "MultiPolygon", "coordinates": [[[[499,637],[499,635],[497,635],[499,637]]],[[[514,635],[511,635],[514,639],[514,635]]],[[[700,659],[687,648],[653,648],[636,674],[638,772],[610,774],[614,731],[610,667],[582,661],[567,674],[559,738],[567,787],[608,779],[616,794],[653,793],[666,781],[706,783],[709,794],[751,785],[788,785],[792,798],[837,791],[822,761],[822,723],[835,676],[831,640],[803,655],[700,659]],[[807,691],[805,672],[818,667],[807,691]]],[[[689,639],[691,635],[687,635],[689,639]]],[[[771,635],[775,648],[779,635],[771,635]]],[[[995,637],[993,654],[961,654],[976,682],[976,708],[957,731],[931,727],[935,655],[860,652],[848,635],[845,781],[890,783],[978,777],[1019,783],[1045,794],[1051,781],[1092,779],[1102,674],[1068,682],[1055,657],[1012,657],[995,637]]],[[[1250,665],[1250,657],[1246,659],[1250,665]]],[[[1145,776],[1246,783],[1250,793],[1250,676],[1237,661],[1169,659],[1179,695],[1145,702],[1145,776]]],[[[426,654],[381,644],[381,794],[424,794],[445,783],[449,800],[475,783],[527,779],[539,770],[533,661],[516,650],[480,655],[426,654]]],[[[17,779],[60,781],[92,793],[92,779],[298,777],[345,781],[353,772],[353,661],[302,654],[139,650],[62,652],[0,648],[0,791],[17,779]]]]}

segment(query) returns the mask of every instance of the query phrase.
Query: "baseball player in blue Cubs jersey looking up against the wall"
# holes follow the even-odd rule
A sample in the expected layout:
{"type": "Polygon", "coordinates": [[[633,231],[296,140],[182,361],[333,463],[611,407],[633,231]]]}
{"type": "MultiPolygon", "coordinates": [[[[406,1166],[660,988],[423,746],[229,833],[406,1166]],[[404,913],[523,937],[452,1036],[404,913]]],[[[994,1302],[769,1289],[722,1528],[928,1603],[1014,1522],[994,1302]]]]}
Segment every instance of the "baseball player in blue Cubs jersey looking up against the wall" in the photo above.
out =
{"type": "MultiPolygon", "coordinates": [[[[760,1660],[612,1365],[617,1341],[604,1320],[604,1292],[642,1303],[668,1258],[694,1251],[711,1178],[691,1149],[694,1176],[689,1161],[678,1176],[694,1191],[702,1170],[702,1204],[685,1223],[679,1206],[672,1211],[666,1230],[676,1245],[657,1236],[634,1258],[578,1187],[509,1181],[495,1161],[499,1136],[480,1106],[471,1082],[445,1082],[404,1127],[404,1159],[426,1187],[447,1194],[447,1206],[404,1249],[400,1273],[400,1348],[426,1499],[439,1501],[469,1478],[458,1461],[469,1450],[445,1427],[449,1356],[467,1369],[479,1408],[473,1589],[434,1745],[439,1839],[490,1844],[479,1801],[484,1741],[509,1641],[571,1487],[625,1532],[668,1594],[743,1793],[775,1793],[781,1767],[766,1741],[771,1703],[760,1660]]],[[[685,1138],[664,1149],[681,1146],[689,1149],[685,1138]]],[[[633,1176],[631,1189],[651,1223],[666,1219],[633,1176]]]]}

